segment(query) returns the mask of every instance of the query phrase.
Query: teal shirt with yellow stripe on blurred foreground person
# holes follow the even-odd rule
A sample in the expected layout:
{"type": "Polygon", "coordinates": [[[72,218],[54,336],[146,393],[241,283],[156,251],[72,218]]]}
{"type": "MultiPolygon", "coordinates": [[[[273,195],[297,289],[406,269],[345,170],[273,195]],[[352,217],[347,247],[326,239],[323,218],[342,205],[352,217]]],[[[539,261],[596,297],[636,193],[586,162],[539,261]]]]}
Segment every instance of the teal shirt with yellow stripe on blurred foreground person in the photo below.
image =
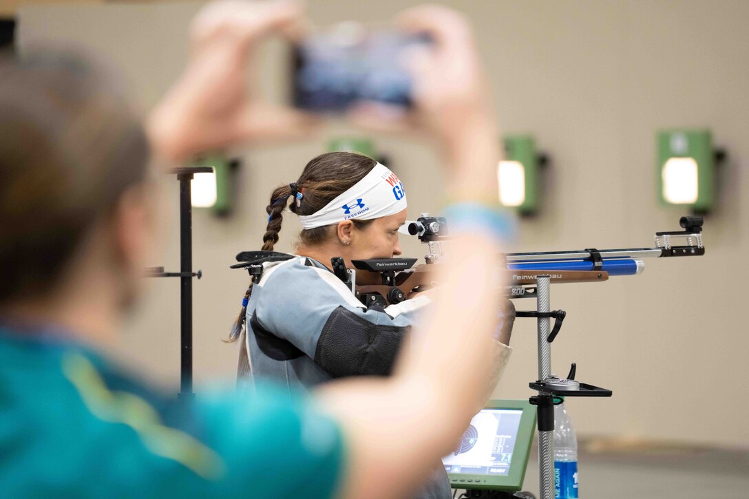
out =
{"type": "Polygon", "coordinates": [[[76,342],[0,329],[0,496],[329,498],[339,426],[303,395],[181,403],[76,342]]]}

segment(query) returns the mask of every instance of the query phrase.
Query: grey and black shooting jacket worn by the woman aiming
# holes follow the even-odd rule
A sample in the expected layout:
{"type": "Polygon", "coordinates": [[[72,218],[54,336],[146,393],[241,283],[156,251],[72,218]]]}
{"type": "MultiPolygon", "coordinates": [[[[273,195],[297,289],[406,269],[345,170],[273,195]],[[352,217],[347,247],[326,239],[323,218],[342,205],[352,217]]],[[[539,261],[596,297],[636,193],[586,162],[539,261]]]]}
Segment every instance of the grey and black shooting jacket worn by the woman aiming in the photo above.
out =
{"type": "MultiPolygon", "coordinates": [[[[389,375],[404,335],[431,306],[428,297],[416,297],[367,309],[312,258],[263,267],[247,303],[238,390],[252,390],[255,379],[280,382],[291,393],[345,376],[389,375]]],[[[452,498],[441,462],[434,463],[430,479],[413,497],[452,498]]]]}

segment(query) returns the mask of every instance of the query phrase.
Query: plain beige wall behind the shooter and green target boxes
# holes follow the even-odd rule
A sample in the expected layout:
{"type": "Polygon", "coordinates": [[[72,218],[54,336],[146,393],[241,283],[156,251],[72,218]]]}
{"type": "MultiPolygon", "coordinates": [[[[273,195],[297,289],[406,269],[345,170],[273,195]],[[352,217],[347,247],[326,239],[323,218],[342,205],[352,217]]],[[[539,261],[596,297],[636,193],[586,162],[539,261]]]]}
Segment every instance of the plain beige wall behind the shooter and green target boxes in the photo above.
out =
{"type": "MultiPolygon", "coordinates": [[[[312,0],[315,22],[383,22],[411,1],[312,0]]],[[[648,247],[658,230],[678,229],[682,211],[655,201],[655,130],[709,127],[730,160],[721,206],[706,220],[705,258],[648,260],[641,276],[595,285],[556,286],[552,307],[567,310],[554,343],[554,371],[577,362],[583,381],[610,387],[612,399],[569,402],[581,435],[617,435],[749,447],[736,428],[749,402],[744,378],[749,336],[742,316],[742,261],[749,250],[749,2],[452,1],[476,26],[506,132],[530,132],[552,157],[542,214],[521,222],[516,250],[648,247]]],[[[122,68],[146,109],[187,56],[186,29],[198,4],[40,6],[21,10],[22,42],[76,40],[122,68]]],[[[271,46],[265,86],[278,96],[282,50],[271,46]]],[[[333,125],[327,136],[346,131],[333,125]]],[[[234,372],[235,348],[223,345],[246,275],[228,270],[233,255],[256,249],[264,206],[275,184],[294,180],[323,151],[324,137],[246,153],[237,215],[196,213],[195,370],[198,390],[234,372]]],[[[435,211],[437,158],[424,145],[377,138],[409,189],[413,213],[435,211]]],[[[166,204],[166,255],[178,266],[177,184],[166,204]]],[[[296,220],[285,222],[290,249],[296,220]]],[[[416,243],[406,253],[423,255],[416,243]]],[[[294,290],[289,283],[290,292],[294,290]]],[[[178,380],[178,282],[151,282],[118,353],[170,389],[178,380]]],[[[521,302],[528,309],[532,302],[521,302]]],[[[456,319],[456,334],[461,332],[456,319]]],[[[497,396],[525,398],[536,377],[535,326],[515,327],[515,354],[497,396]]],[[[458,362],[459,360],[456,360],[458,362]]]]}

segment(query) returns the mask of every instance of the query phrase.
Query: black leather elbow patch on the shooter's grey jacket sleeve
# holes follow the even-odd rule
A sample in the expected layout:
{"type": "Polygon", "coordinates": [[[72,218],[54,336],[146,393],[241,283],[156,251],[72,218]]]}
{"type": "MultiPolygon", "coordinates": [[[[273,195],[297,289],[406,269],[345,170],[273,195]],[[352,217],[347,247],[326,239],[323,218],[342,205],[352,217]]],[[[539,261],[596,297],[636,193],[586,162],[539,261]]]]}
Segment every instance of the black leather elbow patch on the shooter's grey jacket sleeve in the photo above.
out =
{"type": "Polygon", "coordinates": [[[372,324],[339,306],[325,323],[315,363],[333,378],[353,375],[386,376],[392,372],[408,327],[372,324]]]}

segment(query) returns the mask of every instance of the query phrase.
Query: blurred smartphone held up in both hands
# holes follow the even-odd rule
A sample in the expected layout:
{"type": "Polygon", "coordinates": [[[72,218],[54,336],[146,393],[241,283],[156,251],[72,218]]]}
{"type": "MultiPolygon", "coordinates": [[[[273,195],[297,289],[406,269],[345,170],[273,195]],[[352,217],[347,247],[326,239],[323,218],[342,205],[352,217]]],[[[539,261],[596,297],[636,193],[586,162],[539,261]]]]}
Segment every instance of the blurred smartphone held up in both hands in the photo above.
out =
{"type": "Polygon", "coordinates": [[[410,107],[407,57],[428,43],[424,35],[375,31],[354,22],[318,30],[294,46],[294,106],[312,112],[344,112],[362,101],[410,107]]]}

